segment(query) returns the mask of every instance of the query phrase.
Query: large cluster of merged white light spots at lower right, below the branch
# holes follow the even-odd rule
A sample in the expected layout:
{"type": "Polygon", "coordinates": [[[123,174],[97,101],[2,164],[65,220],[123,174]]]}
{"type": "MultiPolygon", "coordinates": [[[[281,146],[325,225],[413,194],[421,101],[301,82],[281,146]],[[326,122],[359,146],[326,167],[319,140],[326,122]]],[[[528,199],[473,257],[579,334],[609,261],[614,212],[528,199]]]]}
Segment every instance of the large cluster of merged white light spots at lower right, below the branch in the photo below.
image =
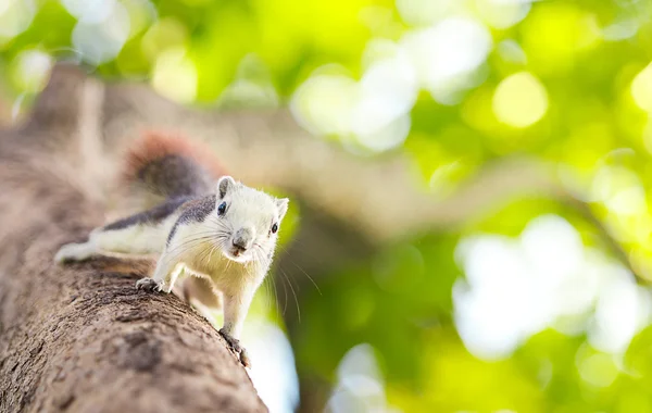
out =
{"type": "Polygon", "coordinates": [[[650,322],[650,297],[631,274],[556,215],[532,220],[516,239],[467,237],[455,258],[466,275],[453,287],[455,324],[478,358],[509,356],[550,327],[586,330],[594,348],[619,354],[650,322]]]}

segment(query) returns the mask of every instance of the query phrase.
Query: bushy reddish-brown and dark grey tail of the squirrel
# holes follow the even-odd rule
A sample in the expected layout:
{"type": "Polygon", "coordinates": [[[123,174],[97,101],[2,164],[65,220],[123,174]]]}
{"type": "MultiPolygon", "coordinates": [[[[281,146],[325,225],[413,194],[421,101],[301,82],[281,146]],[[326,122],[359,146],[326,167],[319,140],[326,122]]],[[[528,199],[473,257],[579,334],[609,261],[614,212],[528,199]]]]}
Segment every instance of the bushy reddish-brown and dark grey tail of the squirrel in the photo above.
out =
{"type": "Polygon", "coordinates": [[[147,132],[127,152],[123,179],[156,198],[206,195],[224,175],[211,152],[178,135],[147,132]]]}

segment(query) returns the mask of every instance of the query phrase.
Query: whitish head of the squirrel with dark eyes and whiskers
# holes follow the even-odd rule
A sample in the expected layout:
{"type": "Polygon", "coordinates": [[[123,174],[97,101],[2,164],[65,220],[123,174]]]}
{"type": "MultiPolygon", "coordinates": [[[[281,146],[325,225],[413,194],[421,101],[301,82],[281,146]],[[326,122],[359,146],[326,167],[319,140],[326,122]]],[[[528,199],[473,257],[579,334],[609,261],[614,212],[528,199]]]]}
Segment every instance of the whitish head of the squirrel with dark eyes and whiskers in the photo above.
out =
{"type": "Polygon", "coordinates": [[[230,176],[220,178],[215,198],[222,253],[240,263],[269,261],[289,200],[250,188],[230,176]]]}

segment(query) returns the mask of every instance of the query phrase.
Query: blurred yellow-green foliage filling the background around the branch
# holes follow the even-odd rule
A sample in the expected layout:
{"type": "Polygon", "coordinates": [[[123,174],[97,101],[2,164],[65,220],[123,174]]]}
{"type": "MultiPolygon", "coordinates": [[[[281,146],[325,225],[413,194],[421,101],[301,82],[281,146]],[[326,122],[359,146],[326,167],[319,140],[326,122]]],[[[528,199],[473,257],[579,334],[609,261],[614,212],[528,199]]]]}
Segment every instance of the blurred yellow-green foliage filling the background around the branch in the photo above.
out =
{"type": "MultiPolygon", "coordinates": [[[[187,104],[228,104],[225,96],[251,105],[286,104],[315,73],[348,76],[351,85],[363,78],[386,52],[369,46],[379,45],[374,41],[396,45],[451,16],[472,18],[490,35],[487,55],[462,75],[444,78],[447,87],[460,86],[447,89],[448,95],[417,82],[409,133],[388,150],[406,154],[424,188],[442,197],[507,155],[550,162],[566,185],[581,189],[641,273],[650,274],[649,1],[125,0],[120,4],[128,16],[126,32],[117,24],[98,35],[117,39],[114,55],[93,54],[100,40],[90,38],[90,47],[75,42],[82,14],[74,11],[85,2],[8,4],[10,11],[24,7],[22,15],[34,12],[25,27],[10,27],[8,18],[15,16],[0,3],[0,23],[5,23],[0,28],[0,96],[12,102],[38,93],[43,59],[73,59],[108,78],[151,82],[187,104]],[[239,82],[246,87],[234,88],[239,82]]],[[[86,4],[101,9],[98,1],[86,4]]],[[[331,107],[317,108],[327,112],[331,107]]],[[[347,148],[364,146],[352,146],[347,134],[335,135],[347,148]]],[[[368,343],[388,403],[405,412],[652,412],[647,289],[637,290],[643,296],[638,313],[626,312],[625,320],[606,316],[612,324],[629,325],[628,317],[643,314],[632,327],[632,334],[640,333],[618,351],[590,337],[600,328],[598,298],[580,314],[528,331],[506,355],[474,352],[460,334],[455,286],[467,275],[460,242],[482,234],[525,239],[528,224],[546,214],[569,222],[587,249],[601,248],[595,228],[576,211],[535,198],[513,201],[456,231],[386,246],[369,262],[321,277],[321,291],[300,291],[303,321],[292,341],[300,374],[335,386],[344,354],[368,343]],[[576,327],[563,328],[564,323],[576,327]]],[[[298,218],[290,215],[288,222],[298,218]]],[[[555,261],[541,253],[543,261],[555,261]]],[[[496,265],[499,274],[502,262],[496,265]]],[[[618,275],[630,283],[626,272],[618,275]]],[[[595,297],[604,295],[609,291],[595,297]]]]}

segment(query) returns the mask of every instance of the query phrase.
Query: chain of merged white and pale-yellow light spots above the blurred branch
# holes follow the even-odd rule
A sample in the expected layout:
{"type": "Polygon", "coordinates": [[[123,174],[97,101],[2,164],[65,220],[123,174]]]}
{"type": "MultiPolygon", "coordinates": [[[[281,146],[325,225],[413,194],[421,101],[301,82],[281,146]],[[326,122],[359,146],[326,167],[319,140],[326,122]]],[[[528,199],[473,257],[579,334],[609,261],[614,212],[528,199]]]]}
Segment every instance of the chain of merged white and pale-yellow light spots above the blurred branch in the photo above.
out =
{"type": "Polygon", "coordinates": [[[419,90],[440,103],[456,103],[484,82],[487,73],[478,67],[491,47],[487,28],[462,16],[411,32],[398,43],[372,40],[360,82],[322,67],[298,88],[290,109],[312,134],[337,137],[351,152],[389,151],[408,138],[419,90]]]}

